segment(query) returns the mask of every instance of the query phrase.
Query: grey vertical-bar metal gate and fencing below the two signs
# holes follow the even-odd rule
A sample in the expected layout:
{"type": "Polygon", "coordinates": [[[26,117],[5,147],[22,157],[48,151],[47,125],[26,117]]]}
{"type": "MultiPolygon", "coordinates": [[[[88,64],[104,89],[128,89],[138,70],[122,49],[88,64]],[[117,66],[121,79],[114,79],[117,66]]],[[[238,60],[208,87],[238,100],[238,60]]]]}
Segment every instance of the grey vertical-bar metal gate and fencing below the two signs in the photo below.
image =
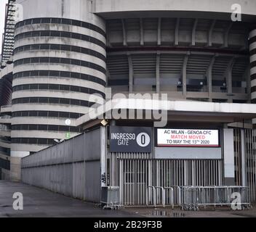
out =
{"type": "MultiPolygon", "coordinates": [[[[223,184],[222,159],[152,159],[151,154],[111,153],[108,167],[108,183],[120,186],[124,205],[145,205],[147,186],[223,184]]],[[[174,194],[177,204],[177,191],[174,194]]],[[[161,199],[160,188],[156,190],[156,199],[161,199]]]]}

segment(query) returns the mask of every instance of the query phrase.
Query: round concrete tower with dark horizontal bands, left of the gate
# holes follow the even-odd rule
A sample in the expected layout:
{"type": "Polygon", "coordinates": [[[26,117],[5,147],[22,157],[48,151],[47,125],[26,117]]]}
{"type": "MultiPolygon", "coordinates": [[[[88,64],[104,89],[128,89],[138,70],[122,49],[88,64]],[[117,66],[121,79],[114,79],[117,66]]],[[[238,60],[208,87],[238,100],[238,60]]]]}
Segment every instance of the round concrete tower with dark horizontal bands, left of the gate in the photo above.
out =
{"type": "Polygon", "coordinates": [[[105,22],[89,1],[17,3],[24,20],[15,26],[13,156],[79,134],[74,120],[95,104],[90,94],[105,98],[106,82],[105,22]]]}

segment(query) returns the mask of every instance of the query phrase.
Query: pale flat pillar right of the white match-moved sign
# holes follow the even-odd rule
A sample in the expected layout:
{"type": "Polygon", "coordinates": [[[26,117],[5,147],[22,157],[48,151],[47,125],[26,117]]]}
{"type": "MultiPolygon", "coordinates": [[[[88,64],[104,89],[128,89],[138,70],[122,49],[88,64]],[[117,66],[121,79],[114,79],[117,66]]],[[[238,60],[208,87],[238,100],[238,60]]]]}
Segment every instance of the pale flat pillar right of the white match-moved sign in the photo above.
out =
{"type": "Polygon", "coordinates": [[[223,129],[224,151],[224,184],[232,186],[235,183],[235,164],[233,149],[233,129],[223,129]]]}

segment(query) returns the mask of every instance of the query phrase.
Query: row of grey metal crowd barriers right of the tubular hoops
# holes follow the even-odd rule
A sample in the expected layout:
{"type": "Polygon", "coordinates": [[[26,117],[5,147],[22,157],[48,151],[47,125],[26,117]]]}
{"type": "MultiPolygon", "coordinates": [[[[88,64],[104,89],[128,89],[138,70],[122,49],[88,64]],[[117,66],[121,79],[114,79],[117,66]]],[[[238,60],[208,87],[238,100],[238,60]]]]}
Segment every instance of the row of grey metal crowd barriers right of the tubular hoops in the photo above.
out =
{"type": "Polygon", "coordinates": [[[182,210],[199,210],[199,207],[207,206],[239,205],[238,210],[251,207],[249,188],[244,186],[182,186],[181,196],[182,210]]]}

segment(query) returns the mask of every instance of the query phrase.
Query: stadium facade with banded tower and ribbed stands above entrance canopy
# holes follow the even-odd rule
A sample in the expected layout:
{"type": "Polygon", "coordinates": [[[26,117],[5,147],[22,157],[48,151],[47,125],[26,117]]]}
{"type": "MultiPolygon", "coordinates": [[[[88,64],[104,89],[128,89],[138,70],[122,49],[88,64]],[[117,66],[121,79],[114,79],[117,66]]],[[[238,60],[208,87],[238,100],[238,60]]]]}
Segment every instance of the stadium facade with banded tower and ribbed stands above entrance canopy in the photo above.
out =
{"type": "Polygon", "coordinates": [[[13,63],[0,72],[7,86],[3,159],[79,135],[77,120],[96,101],[90,95],[105,99],[106,87],[177,101],[255,103],[256,3],[236,2],[241,22],[231,20],[233,1],[16,0],[23,20],[15,25],[13,63]]]}

